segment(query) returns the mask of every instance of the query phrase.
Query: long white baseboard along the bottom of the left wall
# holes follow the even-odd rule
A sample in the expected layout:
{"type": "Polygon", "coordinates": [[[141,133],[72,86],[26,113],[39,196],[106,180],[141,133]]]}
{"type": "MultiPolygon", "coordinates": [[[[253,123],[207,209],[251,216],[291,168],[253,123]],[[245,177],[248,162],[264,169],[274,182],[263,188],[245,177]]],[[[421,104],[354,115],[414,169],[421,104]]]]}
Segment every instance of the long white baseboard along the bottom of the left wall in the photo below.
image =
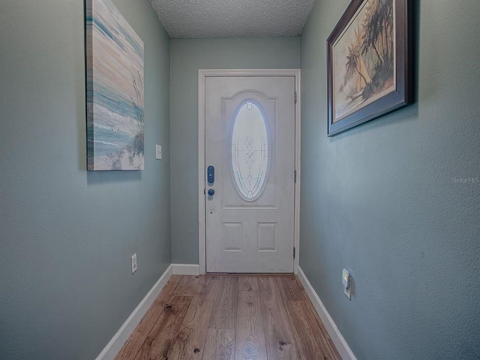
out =
{"type": "MultiPolygon", "coordinates": [[[[197,265],[198,266],[198,265],[197,265]]],[[[121,325],[115,335],[111,338],[110,342],[101,350],[101,352],[96,357],[96,360],[112,360],[118,351],[120,351],[121,346],[127,340],[128,336],[133,332],[138,322],[148,310],[150,305],[153,303],[155,298],[160,293],[163,286],[165,286],[168,279],[173,274],[173,266],[170,264],[166,270],[161,274],[158,281],[155,282],[153,287],[148,291],[148,293],[143,297],[138,306],[133,310],[133,312],[128,316],[126,321],[121,325]]]]}

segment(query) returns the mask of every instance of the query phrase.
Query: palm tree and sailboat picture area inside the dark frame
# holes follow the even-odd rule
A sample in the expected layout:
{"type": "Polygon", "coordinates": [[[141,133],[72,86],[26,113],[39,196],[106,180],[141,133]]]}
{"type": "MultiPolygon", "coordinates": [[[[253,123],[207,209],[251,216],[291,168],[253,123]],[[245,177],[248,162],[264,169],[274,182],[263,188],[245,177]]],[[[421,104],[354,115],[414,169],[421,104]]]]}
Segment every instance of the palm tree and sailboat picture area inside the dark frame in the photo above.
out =
{"type": "Polygon", "coordinates": [[[363,1],[333,45],[334,122],[395,89],[393,1],[363,1]]]}

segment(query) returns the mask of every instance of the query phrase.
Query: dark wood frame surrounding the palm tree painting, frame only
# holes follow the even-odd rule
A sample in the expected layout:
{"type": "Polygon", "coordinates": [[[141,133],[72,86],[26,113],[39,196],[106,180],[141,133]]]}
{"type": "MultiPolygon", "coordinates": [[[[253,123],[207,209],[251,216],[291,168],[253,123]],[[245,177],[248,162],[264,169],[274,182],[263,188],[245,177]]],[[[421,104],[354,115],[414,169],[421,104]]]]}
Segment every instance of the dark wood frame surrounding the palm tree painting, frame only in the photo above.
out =
{"type": "MultiPolygon", "coordinates": [[[[405,106],[413,101],[413,36],[411,0],[393,0],[395,24],[395,89],[386,95],[334,120],[333,45],[345,27],[368,0],[352,0],[326,40],[327,45],[327,95],[328,127],[327,136],[372,120],[387,112],[405,106]]],[[[383,45],[383,43],[382,43],[383,45]]],[[[392,46],[393,47],[393,46],[392,46]]]]}

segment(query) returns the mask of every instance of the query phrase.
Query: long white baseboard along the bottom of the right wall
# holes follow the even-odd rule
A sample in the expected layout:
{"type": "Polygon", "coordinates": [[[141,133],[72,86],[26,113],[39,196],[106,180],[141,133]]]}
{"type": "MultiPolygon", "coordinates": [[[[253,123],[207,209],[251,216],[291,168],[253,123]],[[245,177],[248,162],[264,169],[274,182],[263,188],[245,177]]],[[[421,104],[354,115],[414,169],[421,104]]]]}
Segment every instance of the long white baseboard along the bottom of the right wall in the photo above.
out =
{"type": "Polygon", "coordinates": [[[297,276],[301,284],[303,285],[303,288],[305,289],[306,293],[308,294],[310,301],[315,307],[316,312],[318,312],[318,315],[320,316],[320,319],[323,322],[323,325],[325,325],[326,331],[328,331],[328,335],[330,335],[330,338],[335,344],[335,347],[338,350],[338,353],[340,354],[341,358],[343,360],[356,360],[355,355],[353,355],[353,352],[350,350],[350,347],[348,346],[345,339],[341,335],[340,330],[338,330],[338,327],[336,327],[335,323],[333,322],[333,319],[331,318],[328,311],[326,311],[325,306],[323,306],[323,303],[318,297],[318,294],[315,292],[315,290],[311,286],[310,282],[306,278],[300,266],[298,266],[297,276]]]}

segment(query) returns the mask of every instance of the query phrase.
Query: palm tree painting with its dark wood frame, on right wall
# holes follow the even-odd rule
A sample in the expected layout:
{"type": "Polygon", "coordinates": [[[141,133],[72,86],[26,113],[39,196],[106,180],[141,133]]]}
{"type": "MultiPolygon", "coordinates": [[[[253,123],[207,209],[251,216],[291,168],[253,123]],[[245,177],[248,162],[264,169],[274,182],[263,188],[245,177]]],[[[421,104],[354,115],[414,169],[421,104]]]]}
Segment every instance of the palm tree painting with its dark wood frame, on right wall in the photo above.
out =
{"type": "Polygon", "coordinates": [[[409,0],[352,0],[327,39],[331,136],[412,101],[409,0]]]}

